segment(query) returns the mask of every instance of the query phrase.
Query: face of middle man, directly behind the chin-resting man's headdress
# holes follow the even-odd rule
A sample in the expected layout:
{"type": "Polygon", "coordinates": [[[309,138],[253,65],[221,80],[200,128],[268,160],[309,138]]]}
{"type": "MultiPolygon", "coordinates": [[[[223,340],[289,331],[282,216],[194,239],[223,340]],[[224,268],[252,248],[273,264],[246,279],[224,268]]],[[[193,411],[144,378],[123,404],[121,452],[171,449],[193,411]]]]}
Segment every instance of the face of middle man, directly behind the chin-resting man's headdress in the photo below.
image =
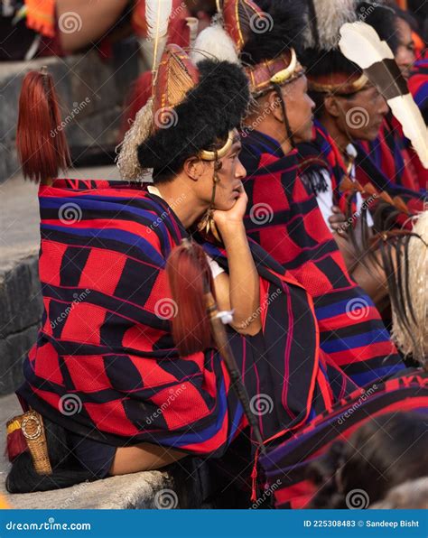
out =
{"type": "Polygon", "coordinates": [[[285,109],[295,143],[312,139],[315,103],[308,95],[308,81],[303,75],[282,88],[285,109]]]}

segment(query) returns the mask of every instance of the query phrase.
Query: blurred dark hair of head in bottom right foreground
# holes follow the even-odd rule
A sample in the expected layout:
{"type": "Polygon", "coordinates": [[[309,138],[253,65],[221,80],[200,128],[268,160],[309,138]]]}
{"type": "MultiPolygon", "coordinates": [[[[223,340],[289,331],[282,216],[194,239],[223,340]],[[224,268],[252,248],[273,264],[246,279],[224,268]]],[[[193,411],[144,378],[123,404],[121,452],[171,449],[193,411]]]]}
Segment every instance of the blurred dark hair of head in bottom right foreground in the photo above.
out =
{"type": "MultiPolygon", "coordinates": [[[[336,441],[307,469],[318,488],[312,508],[347,508],[355,490],[367,503],[382,499],[391,487],[419,478],[428,468],[426,414],[386,413],[336,441]]],[[[366,506],[367,507],[367,506],[366,506]]]]}

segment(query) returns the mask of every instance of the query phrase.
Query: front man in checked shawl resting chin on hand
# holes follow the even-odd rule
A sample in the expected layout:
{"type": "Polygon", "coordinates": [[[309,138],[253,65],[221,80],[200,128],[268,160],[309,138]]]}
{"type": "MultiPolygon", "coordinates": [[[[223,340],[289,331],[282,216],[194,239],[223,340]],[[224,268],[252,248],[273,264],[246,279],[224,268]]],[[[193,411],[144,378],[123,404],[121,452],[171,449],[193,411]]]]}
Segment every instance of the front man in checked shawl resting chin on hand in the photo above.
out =
{"type": "MultiPolygon", "coordinates": [[[[50,136],[60,124],[53,81],[24,80],[17,139],[23,172],[42,181],[44,313],[17,390],[31,409],[7,429],[11,492],[224,453],[247,428],[244,410],[253,414],[212,340],[207,288],[233,312],[228,340],[263,439],[356,388],[319,348],[311,297],[247,241],[234,131],[245,74],[227,61],[197,69],[170,45],[156,81],[120,153],[128,181],[108,182],[52,180],[68,162],[63,133],[50,136]],[[147,169],[148,186],[139,182],[147,169]],[[207,241],[209,229],[221,242],[207,241]],[[181,246],[190,237],[204,250],[181,246]]],[[[398,366],[390,360],[382,373],[398,366]]]]}

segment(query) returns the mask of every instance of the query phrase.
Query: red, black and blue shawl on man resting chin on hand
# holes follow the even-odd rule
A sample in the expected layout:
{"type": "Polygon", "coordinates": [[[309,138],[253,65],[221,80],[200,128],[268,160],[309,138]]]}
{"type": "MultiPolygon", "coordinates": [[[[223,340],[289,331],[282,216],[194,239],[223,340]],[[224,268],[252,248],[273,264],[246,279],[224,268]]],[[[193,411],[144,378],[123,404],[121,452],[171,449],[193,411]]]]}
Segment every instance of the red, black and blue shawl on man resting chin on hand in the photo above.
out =
{"type": "MultiPolygon", "coordinates": [[[[57,180],[40,189],[44,313],[17,394],[98,441],[221,454],[247,422],[219,353],[180,357],[164,271],[187,236],[138,184],[57,180]]],[[[224,252],[204,246],[228,270],[224,252]]],[[[298,428],[353,385],[323,357],[312,300],[252,244],[262,334],[229,329],[262,434],[298,428]],[[321,357],[320,357],[321,355],[321,357]]]]}

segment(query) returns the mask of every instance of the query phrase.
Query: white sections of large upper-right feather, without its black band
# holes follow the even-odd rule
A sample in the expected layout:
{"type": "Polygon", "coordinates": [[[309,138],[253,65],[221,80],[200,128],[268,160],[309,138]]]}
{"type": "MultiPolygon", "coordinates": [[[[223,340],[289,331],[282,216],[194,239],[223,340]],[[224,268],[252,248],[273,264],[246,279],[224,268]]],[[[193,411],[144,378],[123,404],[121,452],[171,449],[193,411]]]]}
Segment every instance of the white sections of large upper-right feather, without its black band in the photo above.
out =
{"type": "MultiPolygon", "coordinates": [[[[378,61],[392,59],[394,54],[386,42],[380,41],[376,30],[366,23],[346,23],[340,28],[340,51],[348,60],[362,70],[378,61]]],[[[371,80],[376,85],[376,80],[371,80]]],[[[391,79],[391,84],[395,80],[391,79]]],[[[405,136],[410,140],[424,168],[428,168],[428,131],[421,111],[410,93],[387,101],[395,118],[403,126],[405,136]]]]}

